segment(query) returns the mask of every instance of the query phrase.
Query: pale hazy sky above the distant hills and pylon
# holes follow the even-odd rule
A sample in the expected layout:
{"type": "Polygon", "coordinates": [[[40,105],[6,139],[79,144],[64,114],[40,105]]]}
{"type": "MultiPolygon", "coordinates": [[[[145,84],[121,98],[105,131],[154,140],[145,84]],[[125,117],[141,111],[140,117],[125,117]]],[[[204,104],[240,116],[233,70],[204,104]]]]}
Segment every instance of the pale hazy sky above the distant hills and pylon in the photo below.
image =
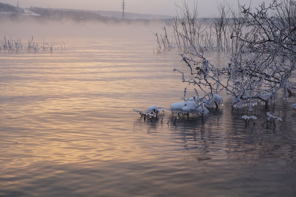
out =
{"type": "MultiPolygon", "coordinates": [[[[196,0],[187,0],[189,6],[194,5],[196,0]]],[[[197,0],[199,17],[210,17],[217,14],[217,3],[224,0],[197,0]]],[[[1,3],[17,5],[17,0],[0,0],[1,3]]],[[[228,0],[237,8],[237,0],[228,0]]],[[[241,4],[250,4],[250,0],[240,0],[241,4]]],[[[255,8],[263,0],[252,1],[251,7],[255,8]]],[[[269,4],[271,0],[266,0],[269,4]]],[[[103,11],[121,12],[122,0],[19,0],[20,7],[44,7],[44,8],[69,8],[69,9],[89,9],[103,11]]],[[[142,14],[164,14],[169,16],[176,15],[175,4],[182,5],[182,0],[125,0],[125,12],[142,14]]]]}

